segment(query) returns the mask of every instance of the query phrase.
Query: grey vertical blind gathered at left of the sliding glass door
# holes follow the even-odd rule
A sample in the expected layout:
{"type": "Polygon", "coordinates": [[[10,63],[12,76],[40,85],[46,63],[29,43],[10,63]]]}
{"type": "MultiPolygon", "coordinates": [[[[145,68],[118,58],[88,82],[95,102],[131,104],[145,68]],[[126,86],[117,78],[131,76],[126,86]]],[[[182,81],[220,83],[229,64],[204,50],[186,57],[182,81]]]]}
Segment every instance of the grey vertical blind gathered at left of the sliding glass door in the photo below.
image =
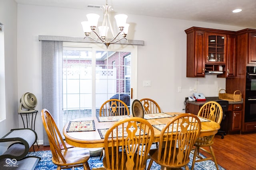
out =
{"type": "MultiPolygon", "coordinates": [[[[62,41],[42,41],[42,108],[48,109],[58,127],[62,125],[62,52],[62,41]]],[[[48,146],[45,130],[43,139],[48,146]]]]}

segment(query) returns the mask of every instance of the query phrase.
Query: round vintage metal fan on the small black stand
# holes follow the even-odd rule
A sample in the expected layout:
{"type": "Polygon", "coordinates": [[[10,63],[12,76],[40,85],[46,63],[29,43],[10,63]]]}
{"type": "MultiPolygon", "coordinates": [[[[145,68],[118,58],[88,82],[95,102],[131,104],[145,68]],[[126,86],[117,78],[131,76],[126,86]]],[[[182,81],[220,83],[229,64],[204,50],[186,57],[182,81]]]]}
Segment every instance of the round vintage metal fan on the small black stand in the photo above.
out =
{"type": "Polygon", "coordinates": [[[34,112],[36,105],[36,96],[32,93],[24,93],[20,98],[20,107],[18,109],[18,113],[34,112]]]}

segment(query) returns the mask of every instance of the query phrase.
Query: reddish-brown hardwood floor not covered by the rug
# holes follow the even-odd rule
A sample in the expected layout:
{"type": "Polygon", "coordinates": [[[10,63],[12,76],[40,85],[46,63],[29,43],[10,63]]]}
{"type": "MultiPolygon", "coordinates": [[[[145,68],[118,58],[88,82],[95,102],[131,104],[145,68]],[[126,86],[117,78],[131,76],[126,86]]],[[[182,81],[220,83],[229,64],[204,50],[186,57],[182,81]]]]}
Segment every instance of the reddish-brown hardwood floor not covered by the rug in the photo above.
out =
{"type": "MultiPolygon", "coordinates": [[[[36,151],[50,150],[42,145],[34,148],[36,151]]],[[[213,149],[218,164],[226,170],[256,170],[256,133],[226,135],[224,139],[216,135],[213,149]]]]}

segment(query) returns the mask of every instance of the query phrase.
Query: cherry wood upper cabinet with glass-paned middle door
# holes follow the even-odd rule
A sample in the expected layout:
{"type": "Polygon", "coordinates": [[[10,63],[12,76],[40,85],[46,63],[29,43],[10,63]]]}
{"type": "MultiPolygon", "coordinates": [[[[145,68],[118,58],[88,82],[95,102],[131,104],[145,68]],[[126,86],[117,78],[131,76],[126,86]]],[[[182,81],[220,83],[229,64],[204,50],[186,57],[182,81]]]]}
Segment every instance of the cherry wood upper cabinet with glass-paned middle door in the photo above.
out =
{"type": "Polygon", "coordinates": [[[235,75],[234,31],[191,27],[185,32],[187,77],[204,77],[208,71],[223,71],[219,77],[235,75]]]}

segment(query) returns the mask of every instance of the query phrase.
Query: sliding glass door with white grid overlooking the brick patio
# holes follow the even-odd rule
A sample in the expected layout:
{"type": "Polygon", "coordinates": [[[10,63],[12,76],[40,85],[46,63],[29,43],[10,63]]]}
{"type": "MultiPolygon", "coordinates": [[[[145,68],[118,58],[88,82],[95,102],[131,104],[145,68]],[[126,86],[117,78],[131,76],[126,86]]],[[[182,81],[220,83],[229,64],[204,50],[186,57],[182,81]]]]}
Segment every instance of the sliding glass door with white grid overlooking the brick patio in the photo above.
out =
{"type": "Polygon", "coordinates": [[[100,106],[111,98],[123,100],[130,107],[131,89],[136,89],[137,48],[107,51],[87,44],[63,45],[63,125],[98,115],[100,106]]]}

